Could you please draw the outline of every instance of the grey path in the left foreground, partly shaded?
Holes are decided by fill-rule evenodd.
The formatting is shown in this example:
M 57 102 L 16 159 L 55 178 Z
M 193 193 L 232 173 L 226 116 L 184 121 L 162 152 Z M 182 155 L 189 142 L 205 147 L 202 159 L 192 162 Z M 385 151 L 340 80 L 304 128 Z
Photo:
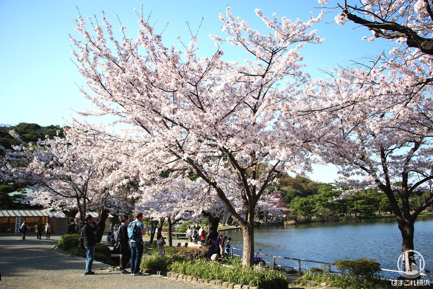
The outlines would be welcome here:
M 145 274 L 131 276 L 119 271 L 101 270 L 109 265 L 94 262 L 95 275 L 84 275 L 85 259 L 70 257 L 53 250 L 60 235 L 51 240 L 37 240 L 29 234 L 26 240 L 19 235 L 0 236 L 0 289 L 216 289 L 204 283 L 169 279 Z

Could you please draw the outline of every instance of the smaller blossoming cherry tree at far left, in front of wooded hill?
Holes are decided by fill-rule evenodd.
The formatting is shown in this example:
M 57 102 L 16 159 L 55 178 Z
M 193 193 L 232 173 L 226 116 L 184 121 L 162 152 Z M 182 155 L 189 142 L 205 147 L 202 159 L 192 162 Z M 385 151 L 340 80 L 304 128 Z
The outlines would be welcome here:
M 32 184 L 28 201 L 58 211 L 100 209 L 100 219 L 118 207 L 114 196 L 126 179 L 113 159 L 104 157 L 94 139 L 80 130 L 65 130 L 65 138 L 39 140 L 36 146 L 15 147 L 2 159 L 2 172 L 15 182 Z M 91 145 L 90 145 L 91 144 Z M 105 220 L 103 220 L 105 224 Z M 103 230 L 103 228 L 102 228 Z

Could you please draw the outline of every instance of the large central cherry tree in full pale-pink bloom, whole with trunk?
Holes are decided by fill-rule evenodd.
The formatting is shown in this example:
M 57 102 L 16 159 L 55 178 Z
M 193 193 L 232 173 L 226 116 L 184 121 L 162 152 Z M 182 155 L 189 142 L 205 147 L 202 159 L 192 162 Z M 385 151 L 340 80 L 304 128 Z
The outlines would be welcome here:
M 82 93 L 97 106 L 96 114 L 118 116 L 135 128 L 142 172 L 152 175 L 149 179 L 187 169 L 215 190 L 243 229 L 244 266 L 253 264 L 257 202 L 278 173 L 306 164 L 301 143 L 291 137 L 293 125 L 283 125 L 280 117 L 308 79 L 301 72 L 300 49 L 322 41 L 310 31 L 322 14 L 304 23 L 255 12 L 268 34 L 227 8 L 220 13 L 227 37 L 211 35 L 215 52 L 201 58 L 197 36 L 183 51 L 165 47 L 143 13 L 135 41 L 125 34 L 117 40 L 104 13 L 100 24 L 90 19 L 90 29 L 79 16 L 75 30 L 83 40 L 70 36 L 78 71 L 90 88 Z M 224 61 L 224 43 L 246 60 Z M 227 198 L 232 191 L 244 217 Z

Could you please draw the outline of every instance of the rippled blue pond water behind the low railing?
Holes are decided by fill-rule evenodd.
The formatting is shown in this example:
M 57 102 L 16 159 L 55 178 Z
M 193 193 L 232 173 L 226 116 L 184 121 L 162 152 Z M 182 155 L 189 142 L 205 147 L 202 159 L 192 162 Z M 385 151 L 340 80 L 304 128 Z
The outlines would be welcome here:
M 425 269 L 430 271 L 433 270 L 432 229 L 433 217 L 420 217 L 415 222 L 414 250 L 423 255 Z M 223 234 L 232 237 L 233 247 L 242 249 L 241 230 Z M 367 257 L 391 270 L 397 270 L 402 244 L 394 218 L 257 227 L 254 238 L 255 252 L 323 262 Z M 263 257 L 270 262 L 269 258 Z M 297 261 L 277 263 L 297 267 Z M 310 266 L 320 267 L 320 264 L 302 263 L 303 268 Z

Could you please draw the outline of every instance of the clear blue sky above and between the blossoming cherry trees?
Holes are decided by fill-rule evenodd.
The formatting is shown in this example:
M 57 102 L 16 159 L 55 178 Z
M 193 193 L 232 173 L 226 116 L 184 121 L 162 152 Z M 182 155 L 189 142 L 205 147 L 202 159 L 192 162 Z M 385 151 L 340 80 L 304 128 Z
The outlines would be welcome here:
M 343 1 L 340 1 L 343 2 Z M 126 26 L 128 36 L 135 38 L 138 29 L 138 16 L 134 8 L 144 6 L 145 14 L 152 12 L 150 19 L 158 19 L 156 32 L 162 31 L 165 23 L 171 25 L 163 33 L 166 45 L 176 44 L 177 36 L 188 39 L 188 27 L 185 21 L 196 30 L 202 16 L 206 16 L 200 28 L 200 53 L 214 51 L 213 42 L 208 40 L 209 33 L 223 36 L 220 30 L 218 10 L 232 8 L 234 16 L 240 16 L 250 26 L 265 31 L 266 27 L 255 15 L 255 8 L 272 17 L 286 16 L 295 20 L 307 21 L 310 11 L 317 16 L 320 5 L 316 0 L 278 0 L 278 1 L 113 1 L 113 0 L 0 0 L 0 124 L 16 125 L 20 122 L 65 125 L 75 115 L 74 111 L 91 108 L 78 91 L 84 85 L 84 79 L 71 62 L 71 42 L 68 33 L 74 32 L 71 19 L 78 16 L 78 6 L 82 16 L 97 14 L 105 10 L 107 18 L 115 28 L 118 27 L 114 15 L 119 15 Z M 335 6 L 330 0 L 328 6 Z M 389 50 L 385 40 L 374 42 L 362 41 L 362 36 L 371 36 L 371 32 L 360 27 L 354 29 L 351 23 L 339 26 L 333 22 L 335 13 L 327 13 L 314 29 L 325 38 L 323 44 L 306 45 L 301 50 L 307 71 L 314 77 L 320 76 L 317 68 L 333 68 L 336 65 L 349 65 L 350 60 L 376 55 L 381 50 Z M 330 23 L 330 24 L 326 24 Z M 227 58 L 236 59 L 236 55 L 226 52 Z M 242 61 L 239 59 L 239 61 Z M 330 181 L 330 175 L 336 169 L 327 166 L 320 172 L 317 169 L 312 179 Z M 332 177 L 331 177 L 332 179 Z

